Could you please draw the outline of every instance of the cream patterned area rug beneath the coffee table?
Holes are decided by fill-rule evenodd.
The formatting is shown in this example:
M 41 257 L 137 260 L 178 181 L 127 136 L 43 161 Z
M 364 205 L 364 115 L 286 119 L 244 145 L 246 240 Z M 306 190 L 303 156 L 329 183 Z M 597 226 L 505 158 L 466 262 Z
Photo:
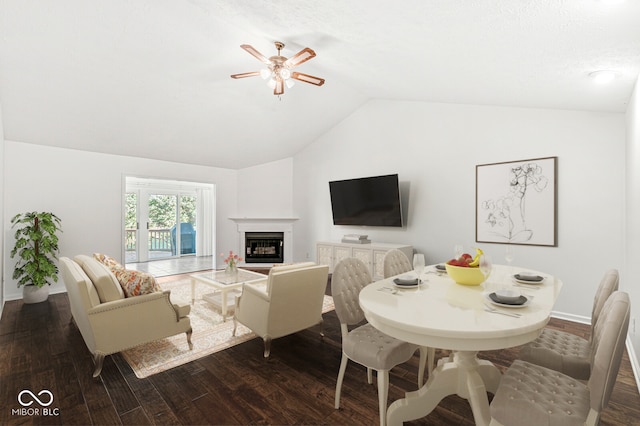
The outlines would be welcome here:
M 173 303 L 191 303 L 190 279 L 170 281 L 162 283 L 160 286 L 163 290 L 171 290 Z M 149 377 L 256 337 L 251 330 L 242 324 L 238 324 L 236 335 L 232 335 L 233 314 L 227 315 L 227 321 L 223 322 L 220 311 L 209 302 L 202 300 L 202 296 L 211 293 L 211 291 L 212 288 L 206 285 L 196 285 L 195 303 L 191 305 L 189 313 L 193 329 L 191 336 L 193 350 L 189 350 L 187 337 L 181 333 L 122 352 L 124 359 L 138 378 Z M 230 294 L 229 298 L 231 297 L 233 296 Z M 333 298 L 325 296 L 322 312 L 329 312 L 333 309 Z

